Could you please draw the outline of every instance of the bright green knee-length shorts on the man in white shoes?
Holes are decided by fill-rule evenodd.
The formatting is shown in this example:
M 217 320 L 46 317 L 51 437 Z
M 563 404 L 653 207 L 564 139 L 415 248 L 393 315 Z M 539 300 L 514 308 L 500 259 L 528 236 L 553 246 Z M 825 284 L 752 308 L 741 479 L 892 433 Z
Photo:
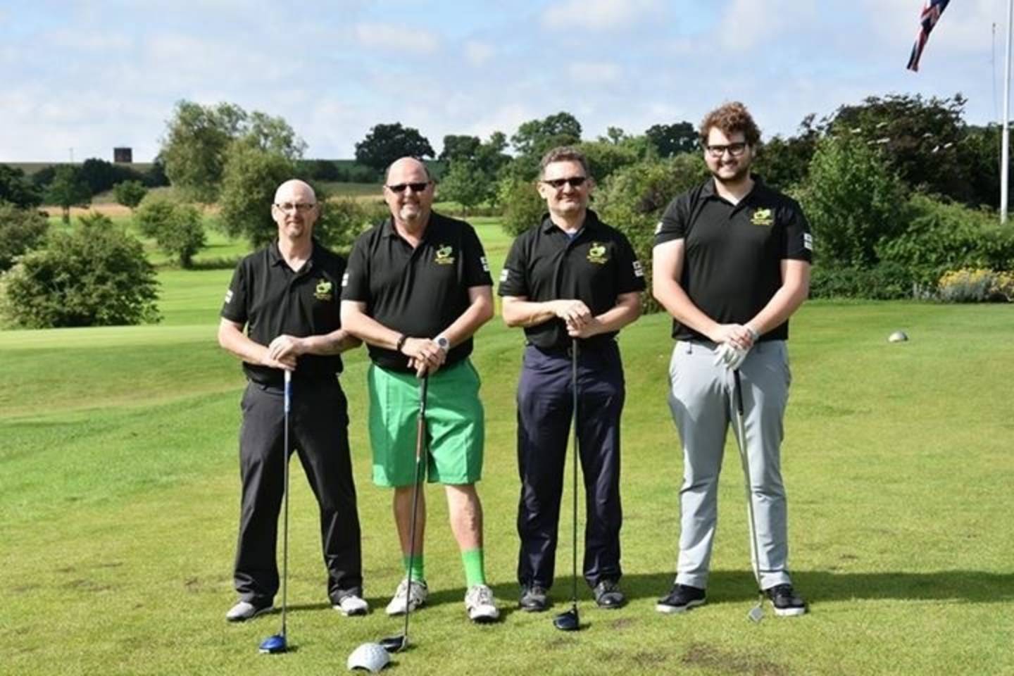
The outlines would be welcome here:
M 388 371 L 371 364 L 366 382 L 370 393 L 373 482 L 412 485 L 422 381 L 414 373 Z M 426 396 L 429 454 L 423 461 L 423 471 L 431 483 L 475 483 L 483 473 L 485 425 L 479 385 L 479 374 L 467 359 L 430 376 Z

